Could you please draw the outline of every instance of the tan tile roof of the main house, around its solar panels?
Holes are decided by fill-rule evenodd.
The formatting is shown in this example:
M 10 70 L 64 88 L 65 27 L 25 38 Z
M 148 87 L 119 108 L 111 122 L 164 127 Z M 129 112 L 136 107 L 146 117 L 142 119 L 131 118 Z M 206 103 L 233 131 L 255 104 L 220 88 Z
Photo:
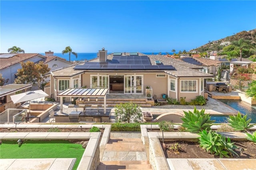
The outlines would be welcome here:
M 125 53 L 125 54 L 129 55 L 129 53 Z M 124 53 L 122 53 L 122 55 L 124 55 Z M 145 54 L 138 53 L 138 56 L 145 56 Z M 186 63 L 186 62 L 180 61 L 178 59 L 172 59 L 172 58 L 166 57 L 165 55 L 147 55 L 147 56 L 148 56 L 148 59 L 149 59 L 151 65 L 157 65 L 155 63 L 155 60 L 161 61 L 162 65 L 172 65 L 172 67 L 174 67 L 174 69 L 164 69 L 164 70 L 160 70 L 160 71 L 163 73 L 170 74 L 175 77 L 191 77 L 191 76 L 193 76 L 193 77 L 208 77 L 208 78 L 213 77 L 212 74 L 207 74 L 207 73 L 204 73 L 201 71 L 194 70 L 194 69 L 202 69 L 203 68 L 202 66 Z M 113 57 L 114 57 L 113 53 L 111 53 L 107 56 L 107 59 L 111 61 L 113 59 Z M 81 63 L 77 63 L 74 65 L 62 68 L 62 69 L 54 70 L 51 73 L 54 77 L 73 77 L 75 75 L 79 75 L 79 74 L 82 74 L 87 71 L 95 71 L 95 70 L 81 70 L 78 68 L 78 67 L 81 67 L 81 65 L 84 65 L 85 62 L 86 61 L 83 61 Z M 89 62 L 96 63 L 96 62 L 99 62 L 99 58 L 96 57 L 87 62 L 88 63 Z M 77 65 L 78 65 L 77 69 L 74 69 L 74 67 L 76 67 Z M 104 68 L 101 68 L 101 70 L 105 71 Z M 121 71 L 124 71 L 124 70 L 125 69 L 123 69 Z M 116 70 L 109 70 L 109 71 L 116 72 Z M 134 71 L 137 71 L 137 70 L 134 70 Z M 152 72 L 152 71 L 145 70 L 145 72 Z

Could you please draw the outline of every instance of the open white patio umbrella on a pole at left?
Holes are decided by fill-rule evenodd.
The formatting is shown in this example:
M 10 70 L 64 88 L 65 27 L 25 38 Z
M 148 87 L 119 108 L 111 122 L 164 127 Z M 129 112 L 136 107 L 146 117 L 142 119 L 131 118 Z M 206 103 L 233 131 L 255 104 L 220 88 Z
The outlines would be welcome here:
M 27 91 L 25 93 L 20 93 L 18 95 L 12 95 L 10 96 L 13 103 L 20 103 L 24 101 L 29 101 L 29 112 L 30 112 L 30 100 L 38 99 L 41 97 L 46 97 L 48 94 L 46 94 L 42 90 L 35 90 L 35 91 Z

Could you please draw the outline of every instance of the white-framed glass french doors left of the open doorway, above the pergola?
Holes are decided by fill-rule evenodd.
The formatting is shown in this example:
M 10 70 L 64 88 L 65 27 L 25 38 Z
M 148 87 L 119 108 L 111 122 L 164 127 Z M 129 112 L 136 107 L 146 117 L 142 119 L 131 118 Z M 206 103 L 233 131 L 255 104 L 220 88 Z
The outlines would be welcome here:
M 91 88 L 108 88 L 108 75 L 91 75 Z

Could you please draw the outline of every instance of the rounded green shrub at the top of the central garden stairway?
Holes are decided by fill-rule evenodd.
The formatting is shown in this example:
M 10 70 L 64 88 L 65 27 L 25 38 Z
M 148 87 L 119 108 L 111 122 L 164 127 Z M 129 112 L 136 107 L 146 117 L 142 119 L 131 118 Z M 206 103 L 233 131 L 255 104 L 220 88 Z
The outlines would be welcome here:
M 136 103 L 120 103 L 115 109 L 116 122 L 135 123 L 142 117 L 140 106 Z

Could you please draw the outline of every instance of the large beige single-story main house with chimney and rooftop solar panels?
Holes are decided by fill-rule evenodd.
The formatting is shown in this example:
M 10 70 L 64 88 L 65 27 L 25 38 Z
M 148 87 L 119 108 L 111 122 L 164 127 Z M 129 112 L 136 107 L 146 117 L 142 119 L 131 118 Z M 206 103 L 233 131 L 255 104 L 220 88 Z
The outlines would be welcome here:
M 52 71 L 48 93 L 57 99 L 56 94 L 67 88 L 86 86 L 109 88 L 108 94 L 145 95 L 148 86 L 158 99 L 167 94 L 178 100 L 186 97 L 189 101 L 204 96 L 204 79 L 213 77 L 195 69 L 202 67 L 163 55 L 137 52 L 107 55 L 102 49 L 95 59 Z

